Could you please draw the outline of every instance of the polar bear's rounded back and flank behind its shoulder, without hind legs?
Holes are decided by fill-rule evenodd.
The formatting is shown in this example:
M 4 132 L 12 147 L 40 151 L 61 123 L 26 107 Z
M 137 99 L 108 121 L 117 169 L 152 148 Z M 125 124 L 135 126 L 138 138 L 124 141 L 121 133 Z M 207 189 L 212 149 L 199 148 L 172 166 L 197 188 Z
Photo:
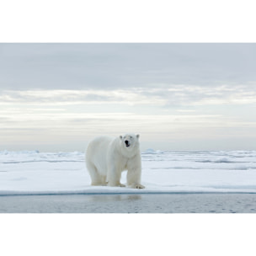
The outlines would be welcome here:
M 86 151 L 86 163 L 93 164 L 99 173 L 104 175 L 107 170 L 107 151 L 109 144 L 115 140 L 111 136 L 98 136 L 90 141 Z

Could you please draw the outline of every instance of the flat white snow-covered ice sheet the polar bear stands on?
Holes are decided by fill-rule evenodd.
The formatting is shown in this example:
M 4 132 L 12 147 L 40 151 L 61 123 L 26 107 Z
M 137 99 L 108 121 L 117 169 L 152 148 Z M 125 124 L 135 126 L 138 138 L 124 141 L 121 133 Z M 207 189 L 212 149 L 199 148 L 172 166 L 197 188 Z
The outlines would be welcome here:
M 2 151 L 0 195 L 256 193 L 256 151 L 150 149 L 141 157 L 146 189 L 131 189 L 91 186 L 83 152 Z

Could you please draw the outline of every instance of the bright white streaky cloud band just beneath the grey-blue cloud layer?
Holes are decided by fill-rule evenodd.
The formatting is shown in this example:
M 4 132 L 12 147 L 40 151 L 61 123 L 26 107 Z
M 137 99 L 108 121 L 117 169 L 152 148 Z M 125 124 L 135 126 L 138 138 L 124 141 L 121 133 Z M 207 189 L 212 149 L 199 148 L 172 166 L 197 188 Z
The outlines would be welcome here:
M 165 85 L 162 88 L 112 90 L 8 90 L 0 92 L 0 104 L 34 104 L 42 106 L 118 104 L 177 106 L 255 104 L 253 85 L 221 85 L 214 88 L 194 85 Z

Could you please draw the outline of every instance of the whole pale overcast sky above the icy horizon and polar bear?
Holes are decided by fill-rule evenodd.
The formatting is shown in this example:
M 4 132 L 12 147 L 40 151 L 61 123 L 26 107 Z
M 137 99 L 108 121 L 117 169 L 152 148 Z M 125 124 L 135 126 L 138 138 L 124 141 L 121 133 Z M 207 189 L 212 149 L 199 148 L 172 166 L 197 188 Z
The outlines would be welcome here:
M 255 150 L 256 44 L 1 43 L 0 151 Z

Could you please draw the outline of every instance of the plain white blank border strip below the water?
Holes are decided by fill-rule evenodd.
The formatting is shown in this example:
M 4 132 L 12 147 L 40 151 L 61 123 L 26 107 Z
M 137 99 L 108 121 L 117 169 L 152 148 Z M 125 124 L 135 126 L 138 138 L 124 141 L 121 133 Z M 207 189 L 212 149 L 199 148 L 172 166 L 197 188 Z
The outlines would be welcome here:
M 244 221 L 246 218 L 246 221 Z M 253 215 L 3 215 L 3 255 L 251 255 Z

